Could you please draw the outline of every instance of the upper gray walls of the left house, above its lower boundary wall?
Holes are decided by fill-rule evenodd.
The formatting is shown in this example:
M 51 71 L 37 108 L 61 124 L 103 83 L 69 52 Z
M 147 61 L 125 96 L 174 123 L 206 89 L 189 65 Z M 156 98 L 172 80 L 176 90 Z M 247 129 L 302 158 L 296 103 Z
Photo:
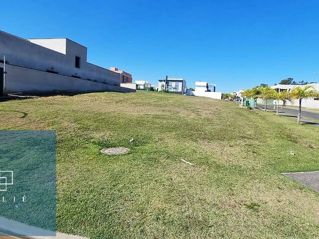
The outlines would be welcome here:
M 0 31 L 0 58 L 5 55 L 6 61 L 12 65 L 41 71 L 56 71 L 61 75 L 75 75 L 82 79 L 120 86 L 121 74 L 88 63 L 87 48 L 69 39 L 64 39 L 64 41 L 61 39 L 30 39 L 37 43 L 35 44 Z M 64 51 L 63 47 L 65 47 L 66 54 L 61 53 Z M 80 57 L 80 68 L 75 67 L 75 56 Z

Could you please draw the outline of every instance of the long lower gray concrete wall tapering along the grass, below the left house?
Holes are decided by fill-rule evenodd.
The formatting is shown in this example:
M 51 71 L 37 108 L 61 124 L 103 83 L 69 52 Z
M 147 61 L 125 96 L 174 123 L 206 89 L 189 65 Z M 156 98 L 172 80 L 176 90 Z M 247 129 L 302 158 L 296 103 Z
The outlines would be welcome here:
M 3 64 L 0 63 L 3 68 Z M 5 93 L 136 92 L 129 88 L 6 64 Z

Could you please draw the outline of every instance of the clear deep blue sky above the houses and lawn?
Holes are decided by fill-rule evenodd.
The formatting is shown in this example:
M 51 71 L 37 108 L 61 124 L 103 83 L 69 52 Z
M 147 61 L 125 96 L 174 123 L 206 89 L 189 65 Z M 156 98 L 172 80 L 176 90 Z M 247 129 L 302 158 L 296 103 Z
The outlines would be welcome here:
M 287 77 L 319 82 L 319 0 L 7 1 L 0 29 L 67 37 L 134 80 L 165 75 L 232 92 Z

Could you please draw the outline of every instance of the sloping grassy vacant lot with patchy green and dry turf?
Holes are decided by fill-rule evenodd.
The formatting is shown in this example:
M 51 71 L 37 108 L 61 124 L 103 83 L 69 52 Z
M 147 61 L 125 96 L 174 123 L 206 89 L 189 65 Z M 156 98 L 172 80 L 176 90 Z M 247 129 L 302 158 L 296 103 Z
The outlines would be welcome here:
M 319 237 L 319 194 L 281 175 L 319 170 L 318 126 L 155 92 L 7 101 L 0 120 L 1 129 L 56 129 L 59 232 L 92 239 Z M 99 153 L 114 146 L 131 152 Z

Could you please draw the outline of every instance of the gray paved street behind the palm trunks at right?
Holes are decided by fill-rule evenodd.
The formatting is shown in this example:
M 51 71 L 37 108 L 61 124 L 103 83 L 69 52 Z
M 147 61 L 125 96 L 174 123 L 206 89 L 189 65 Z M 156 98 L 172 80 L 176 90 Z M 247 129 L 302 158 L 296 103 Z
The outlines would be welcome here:
M 259 109 L 264 109 L 264 105 L 258 104 L 257 107 Z M 274 110 L 274 105 L 267 106 L 267 110 L 276 112 L 276 110 Z M 298 110 L 297 109 L 292 109 L 292 108 L 286 108 L 286 107 L 281 109 L 281 106 L 280 106 L 279 107 L 279 115 L 280 116 L 293 117 L 293 118 L 297 119 Z M 306 123 L 311 123 L 311 119 L 319 120 L 319 113 L 309 112 L 309 111 L 302 111 L 301 115 L 302 115 L 302 121 L 306 122 Z M 303 118 L 307 118 L 307 119 L 303 119 Z M 317 124 L 317 123 L 314 122 L 314 124 Z M 319 125 L 319 123 L 318 123 L 318 125 Z

